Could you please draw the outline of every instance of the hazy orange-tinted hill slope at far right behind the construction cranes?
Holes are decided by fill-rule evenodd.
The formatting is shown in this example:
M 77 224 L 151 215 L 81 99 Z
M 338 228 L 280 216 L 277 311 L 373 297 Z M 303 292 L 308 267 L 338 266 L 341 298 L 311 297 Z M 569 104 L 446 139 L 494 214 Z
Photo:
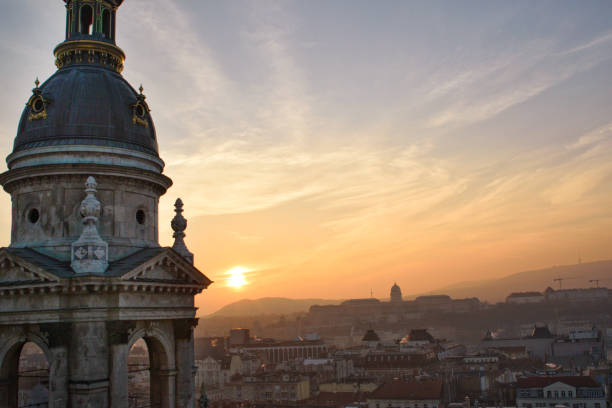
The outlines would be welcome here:
M 586 288 L 591 279 L 600 279 L 600 286 L 612 288 L 612 260 L 585 262 L 576 265 L 519 272 L 499 279 L 460 282 L 427 294 L 445 294 L 452 298 L 477 297 L 482 301 L 499 302 L 512 292 L 544 291 L 548 286 L 558 289 L 555 278 L 563 278 L 563 288 Z

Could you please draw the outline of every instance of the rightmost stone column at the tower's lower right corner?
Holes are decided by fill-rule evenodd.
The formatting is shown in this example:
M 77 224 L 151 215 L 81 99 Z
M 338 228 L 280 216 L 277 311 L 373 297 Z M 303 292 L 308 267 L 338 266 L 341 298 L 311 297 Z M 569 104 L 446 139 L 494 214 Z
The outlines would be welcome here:
M 197 324 L 197 319 L 181 319 L 174 321 L 176 408 L 194 407 L 193 328 Z

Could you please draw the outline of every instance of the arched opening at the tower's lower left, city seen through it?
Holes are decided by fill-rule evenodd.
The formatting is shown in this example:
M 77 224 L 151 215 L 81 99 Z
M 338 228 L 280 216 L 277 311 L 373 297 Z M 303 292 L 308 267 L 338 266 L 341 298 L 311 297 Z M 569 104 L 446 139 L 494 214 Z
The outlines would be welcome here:
M 17 363 L 17 406 L 49 406 L 49 362 L 45 353 L 32 342 L 21 347 Z

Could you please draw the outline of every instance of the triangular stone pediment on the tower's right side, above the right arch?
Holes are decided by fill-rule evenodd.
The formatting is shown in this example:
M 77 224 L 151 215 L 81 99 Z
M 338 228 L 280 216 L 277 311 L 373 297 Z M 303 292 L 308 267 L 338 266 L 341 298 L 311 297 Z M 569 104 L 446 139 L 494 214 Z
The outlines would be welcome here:
M 211 283 L 204 274 L 169 248 L 124 274 L 123 280 L 204 287 Z

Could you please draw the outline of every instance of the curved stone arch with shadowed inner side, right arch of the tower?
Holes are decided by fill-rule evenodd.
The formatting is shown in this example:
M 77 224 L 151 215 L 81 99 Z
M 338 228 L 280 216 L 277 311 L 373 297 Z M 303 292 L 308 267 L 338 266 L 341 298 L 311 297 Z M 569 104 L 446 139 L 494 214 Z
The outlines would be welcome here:
M 158 327 L 149 325 L 136 329 L 128 341 L 128 354 L 136 341 L 143 339 L 149 353 L 150 402 L 153 407 L 174 407 L 175 404 L 175 354 L 173 342 Z M 125 361 L 127 365 L 127 358 Z

